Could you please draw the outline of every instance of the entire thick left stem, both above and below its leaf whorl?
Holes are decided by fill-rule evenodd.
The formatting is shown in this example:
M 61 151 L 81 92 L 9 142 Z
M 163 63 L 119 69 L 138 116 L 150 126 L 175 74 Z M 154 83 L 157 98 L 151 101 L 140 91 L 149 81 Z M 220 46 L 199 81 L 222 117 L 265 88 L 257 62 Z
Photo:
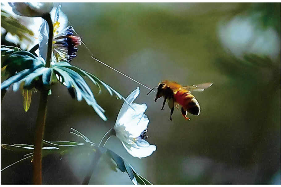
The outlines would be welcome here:
M 50 67 L 52 57 L 52 41 L 53 41 L 53 24 L 50 14 L 42 16 L 49 26 L 49 39 L 46 57 L 46 67 Z M 37 113 L 37 120 L 35 125 L 35 137 L 34 137 L 34 155 L 33 155 L 33 184 L 42 184 L 42 140 L 44 135 L 46 109 L 48 101 L 48 90 L 40 92 L 39 108 Z

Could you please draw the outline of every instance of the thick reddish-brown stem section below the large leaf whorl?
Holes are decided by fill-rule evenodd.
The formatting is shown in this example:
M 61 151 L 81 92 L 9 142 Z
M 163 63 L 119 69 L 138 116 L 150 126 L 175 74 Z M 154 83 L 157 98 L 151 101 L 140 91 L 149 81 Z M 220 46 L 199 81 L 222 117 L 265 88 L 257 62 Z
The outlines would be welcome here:
M 42 184 L 42 140 L 44 134 L 48 91 L 40 92 L 40 102 L 35 126 L 34 154 L 33 154 L 33 184 Z

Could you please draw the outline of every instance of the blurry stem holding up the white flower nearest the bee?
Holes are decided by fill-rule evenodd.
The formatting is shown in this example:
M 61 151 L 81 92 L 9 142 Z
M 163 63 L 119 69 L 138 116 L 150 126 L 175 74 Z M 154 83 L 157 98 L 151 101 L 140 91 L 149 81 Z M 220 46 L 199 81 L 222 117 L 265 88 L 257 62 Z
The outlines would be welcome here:
M 103 145 L 102 147 L 104 147 L 104 145 L 106 144 L 107 140 L 111 137 L 115 135 L 115 131 L 114 129 L 110 129 L 109 131 L 107 131 L 107 133 L 105 133 L 105 135 L 103 136 L 102 140 L 99 143 L 99 147 L 101 147 L 101 145 Z M 82 185 L 88 185 L 90 182 L 90 179 L 93 175 L 94 169 L 96 168 L 96 165 L 98 164 L 98 161 L 100 159 L 100 157 L 102 156 L 102 152 L 100 152 L 99 149 L 96 150 L 96 152 L 94 153 L 94 157 L 92 159 L 91 165 L 88 169 L 88 173 L 86 175 L 86 177 L 84 178 Z

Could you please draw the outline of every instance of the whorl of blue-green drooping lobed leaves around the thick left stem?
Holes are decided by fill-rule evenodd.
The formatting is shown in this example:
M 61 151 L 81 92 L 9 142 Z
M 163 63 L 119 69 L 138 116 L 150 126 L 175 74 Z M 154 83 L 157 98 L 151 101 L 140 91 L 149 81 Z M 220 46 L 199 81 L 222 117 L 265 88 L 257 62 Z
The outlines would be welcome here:
M 105 111 L 99 106 L 92 90 L 83 78 L 87 77 L 98 86 L 99 83 L 102 84 L 111 95 L 114 93 L 118 98 L 127 102 L 123 96 L 97 77 L 78 67 L 71 66 L 67 62 L 58 62 L 53 64 L 52 67 L 44 67 L 45 62 L 42 58 L 36 57 L 27 51 L 17 51 L 9 55 L 3 62 L 3 66 L 5 65 L 7 66 L 7 71 L 9 70 L 14 76 L 11 76 L 1 84 L 1 90 L 7 89 L 13 84 L 13 90 L 17 91 L 21 83 L 24 83 L 23 88 L 27 90 L 33 87 L 36 89 L 42 87 L 50 89 L 49 87 L 52 83 L 60 81 L 67 87 L 72 98 L 76 97 L 78 101 L 84 99 L 103 120 L 107 120 L 104 115 Z

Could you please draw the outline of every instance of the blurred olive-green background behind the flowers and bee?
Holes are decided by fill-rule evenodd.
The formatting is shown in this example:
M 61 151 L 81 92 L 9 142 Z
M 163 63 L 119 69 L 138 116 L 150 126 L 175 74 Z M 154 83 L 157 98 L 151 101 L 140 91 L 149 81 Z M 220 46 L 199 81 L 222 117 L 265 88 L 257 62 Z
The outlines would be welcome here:
M 58 5 L 58 3 L 56 4 Z M 280 185 L 280 3 L 62 3 L 62 11 L 95 58 L 148 87 L 169 79 L 182 85 L 213 82 L 193 94 L 199 116 L 161 110 L 162 99 L 91 59 L 80 46 L 71 62 L 123 96 L 140 86 L 136 103 L 145 114 L 150 144 L 157 150 L 134 158 L 112 137 L 106 144 L 153 184 Z M 90 83 L 90 82 L 89 82 Z M 104 122 L 85 101 L 52 88 L 44 139 L 81 141 L 75 128 L 99 143 L 115 124 L 122 100 L 98 95 Z M 1 105 L 1 144 L 33 144 L 39 93 L 28 112 L 20 91 Z M 1 148 L 1 169 L 23 154 Z M 83 153 L 43 158 L 44 184 L 81 184 L 89 164 Z M 31 184 L 29 161 L 1 172 L 1 184 Z M 90 184 L 132 184 L 127 174 L 100 162 Z

